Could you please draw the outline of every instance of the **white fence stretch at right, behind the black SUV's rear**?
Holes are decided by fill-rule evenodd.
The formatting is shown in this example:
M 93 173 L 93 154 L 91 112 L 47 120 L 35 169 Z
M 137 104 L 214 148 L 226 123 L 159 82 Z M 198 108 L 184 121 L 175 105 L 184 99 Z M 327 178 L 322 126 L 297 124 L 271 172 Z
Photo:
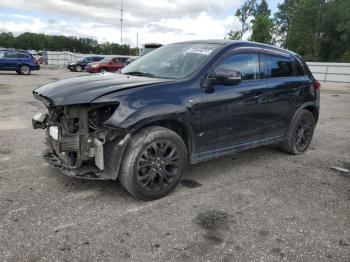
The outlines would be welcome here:
M 350 83 L 350 63 L 308 62 L 307 65 L 319 81 Z

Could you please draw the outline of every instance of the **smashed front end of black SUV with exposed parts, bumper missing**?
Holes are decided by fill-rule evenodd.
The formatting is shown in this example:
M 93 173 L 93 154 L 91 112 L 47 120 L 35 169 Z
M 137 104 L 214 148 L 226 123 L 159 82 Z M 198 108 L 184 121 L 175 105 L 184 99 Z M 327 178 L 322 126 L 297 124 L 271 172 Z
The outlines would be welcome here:
M 36 98 L 44 100 L 48 108 L 48 113 L 39 113 L 32 119 L 34 129 L 46 129 L 45 160 L 69 176 L 116 179 L 131 137 L 123 129 L 104 125 L 118 103 L 52 106 L 48 99 L 38 95 Z

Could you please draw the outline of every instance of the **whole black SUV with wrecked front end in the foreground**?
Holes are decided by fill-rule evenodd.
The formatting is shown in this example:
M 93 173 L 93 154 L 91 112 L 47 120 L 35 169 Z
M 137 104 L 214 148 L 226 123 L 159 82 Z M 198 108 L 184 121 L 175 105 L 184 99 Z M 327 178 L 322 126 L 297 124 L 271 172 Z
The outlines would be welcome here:
M 120 74 L 33 91 L 48 108 L 44 158 L 64 174 L 115 180 L 135 197 L 165 196 L 194 164 L 278 143 L 301 154 L 319 115 L 320 83 L 295 53 L 242 41 L 161 47 Z

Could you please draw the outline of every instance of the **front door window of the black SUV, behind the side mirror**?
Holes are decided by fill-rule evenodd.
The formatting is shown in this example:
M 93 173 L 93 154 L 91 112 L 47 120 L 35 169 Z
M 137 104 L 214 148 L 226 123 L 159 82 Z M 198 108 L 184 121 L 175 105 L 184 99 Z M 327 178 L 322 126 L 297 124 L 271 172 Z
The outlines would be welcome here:
M 260 78 L 258 54 L 237 54 L 226 58 L 217 68 L 239 71 L 243 80 Z

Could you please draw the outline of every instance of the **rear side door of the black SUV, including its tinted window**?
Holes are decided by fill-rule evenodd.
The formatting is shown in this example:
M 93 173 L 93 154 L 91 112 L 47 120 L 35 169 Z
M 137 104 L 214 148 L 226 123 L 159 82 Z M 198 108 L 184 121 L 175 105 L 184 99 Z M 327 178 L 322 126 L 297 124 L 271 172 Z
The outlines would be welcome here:
M 303 86 L 307 77 L 297 76 L 293 57 L 288 54 L 264 51 L 266 76 L 268 78 L 268 115 L 266 126 L 268 137 L 287 133 L 296 109 L 302 103 Z

